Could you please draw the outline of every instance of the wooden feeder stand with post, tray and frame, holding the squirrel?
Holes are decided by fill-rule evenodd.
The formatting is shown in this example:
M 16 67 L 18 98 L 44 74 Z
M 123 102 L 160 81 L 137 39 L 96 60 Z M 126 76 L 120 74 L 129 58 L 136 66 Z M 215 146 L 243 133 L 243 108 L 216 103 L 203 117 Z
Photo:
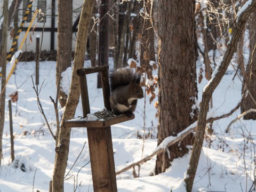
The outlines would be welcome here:
M 90 114 L 90 105 L 87 89 L 86 74 L 101 73 L 102 92 L 104 105 L 108 110 L 110 107 L 110 90 L 108 79 L 109 66 L 89 67 L 78 69 L 77 75 L 79 76 L 82 107 L 84 117 Z M 66 121 L 65 127 L 87 127 L 87 137 L 89 143 L 92 181 L 94 192 L 98 191 L 117 191 L 116 186 L 116 172 L 113 145 L 111 138 L 110 125 L 129 121 L 131 118 L 126 115 L 106 119 L 103 121 Z

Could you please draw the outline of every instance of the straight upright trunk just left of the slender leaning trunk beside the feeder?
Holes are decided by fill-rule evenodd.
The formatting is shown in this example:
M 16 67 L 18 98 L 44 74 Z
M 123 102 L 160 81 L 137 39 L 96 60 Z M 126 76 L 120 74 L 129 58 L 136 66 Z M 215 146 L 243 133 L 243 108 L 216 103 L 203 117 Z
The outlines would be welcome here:
M 61 73 L 71 66 L 72 58 L 72 7 L 73 0 L 59 0 L 59 15 L 58 15 L 58 52 L 56 66 L 56 84 L 61 81 Z M 59 101 L 61 107 L 64 107 L 67 102 L 67 93 L 63 91 L 60 83 Z

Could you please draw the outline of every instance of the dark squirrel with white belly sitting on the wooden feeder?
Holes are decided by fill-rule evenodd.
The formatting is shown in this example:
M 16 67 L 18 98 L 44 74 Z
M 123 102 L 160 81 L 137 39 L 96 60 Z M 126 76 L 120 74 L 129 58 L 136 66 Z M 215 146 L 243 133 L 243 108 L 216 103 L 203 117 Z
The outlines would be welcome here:
M 127 67 L 110 71 L 110 105 L 115 114 L 132 116 L 137 100 L 144 97 L 140 78 Z

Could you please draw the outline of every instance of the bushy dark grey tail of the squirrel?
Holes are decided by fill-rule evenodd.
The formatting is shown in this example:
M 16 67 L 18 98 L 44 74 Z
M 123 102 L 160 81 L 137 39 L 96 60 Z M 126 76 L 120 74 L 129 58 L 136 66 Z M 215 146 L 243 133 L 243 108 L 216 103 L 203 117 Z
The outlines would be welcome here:
M 111 70 L 109 73 L 110 92 L 113 92 L 119 86 L 127 86 L 131 82 L 139 84 L 140 78 L 140 75 L 135 75 L 132 69 L 128 67 Z

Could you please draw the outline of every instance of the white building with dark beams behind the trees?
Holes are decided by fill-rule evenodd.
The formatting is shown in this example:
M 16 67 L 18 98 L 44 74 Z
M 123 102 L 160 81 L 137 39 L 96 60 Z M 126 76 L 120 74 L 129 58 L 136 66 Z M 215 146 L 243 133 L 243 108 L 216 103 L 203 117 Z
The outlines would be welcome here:
M 9 6 L 12 3 L 13 0 L 9 1 Z M 18 18 L 19 18 L 19 25 L 22 22 L 23 15 L 26 12 L 27 5 L 29 4 L 31 0 L 22 0 L 21 5 L 18 7 Z M 36 9 L 41 9 L 43 13 L 46 14 L 46 20 L 45 24 L 44 21 L 37 22 L 35 19 L 31 29 L 35 27 L 34 35 L 31 33 L 31 29 L 29 32 L 29 35 L 26 38 L 26 41 L 24 45 L 22 46 L 22 51 L 33 51 L 36 52 L 36 37 L 40 36 L 42 37 L 42 30 L 43 25 L 44 26 L 44 34 L 43 34 L 43 44 L 42 44 L 42 50 L 57 50 L 57 28 L 58 28 L 58 2 L 59 1 L 65 1 L 65 0 L 34 0 L 31 6 L 31 10 L 29 12 L 27 21 L 25 22 L 25 25 L 23 27 L 22 32 L 19 35 L 18 38 L 18 48 L 20 46 L 20 43 L 22 42 L 22 39 L 25 36 L 26 30 L 30 24 L 31 18 L 33 17 L 33 13 L 36 11 Z M 3 0 L 0 0 L 1 2 L 1 8 L 3 7 Z M 82 10 L 83 0 L 73 0 L 73 51 L 75 50 L 75 43 L 76 43 L 76 34 L 77 34 L 77 27 L 78 27 L 78 21 L 79 21 L 79 15 Z M 0 10 L 0 15 L 2 15 L 3 9 Z M 13 21 L 11 26 L 13 26 Z M 32 42 L 30 41 L 30 36 L 32 39 Z M 7 42 L 7 51 L 9 52 L 11 46 L 12 46 L 12 39 L 10 39 L 10 33 L 8 37 Z M 41 39 L 40 39 L 41 42 Z

